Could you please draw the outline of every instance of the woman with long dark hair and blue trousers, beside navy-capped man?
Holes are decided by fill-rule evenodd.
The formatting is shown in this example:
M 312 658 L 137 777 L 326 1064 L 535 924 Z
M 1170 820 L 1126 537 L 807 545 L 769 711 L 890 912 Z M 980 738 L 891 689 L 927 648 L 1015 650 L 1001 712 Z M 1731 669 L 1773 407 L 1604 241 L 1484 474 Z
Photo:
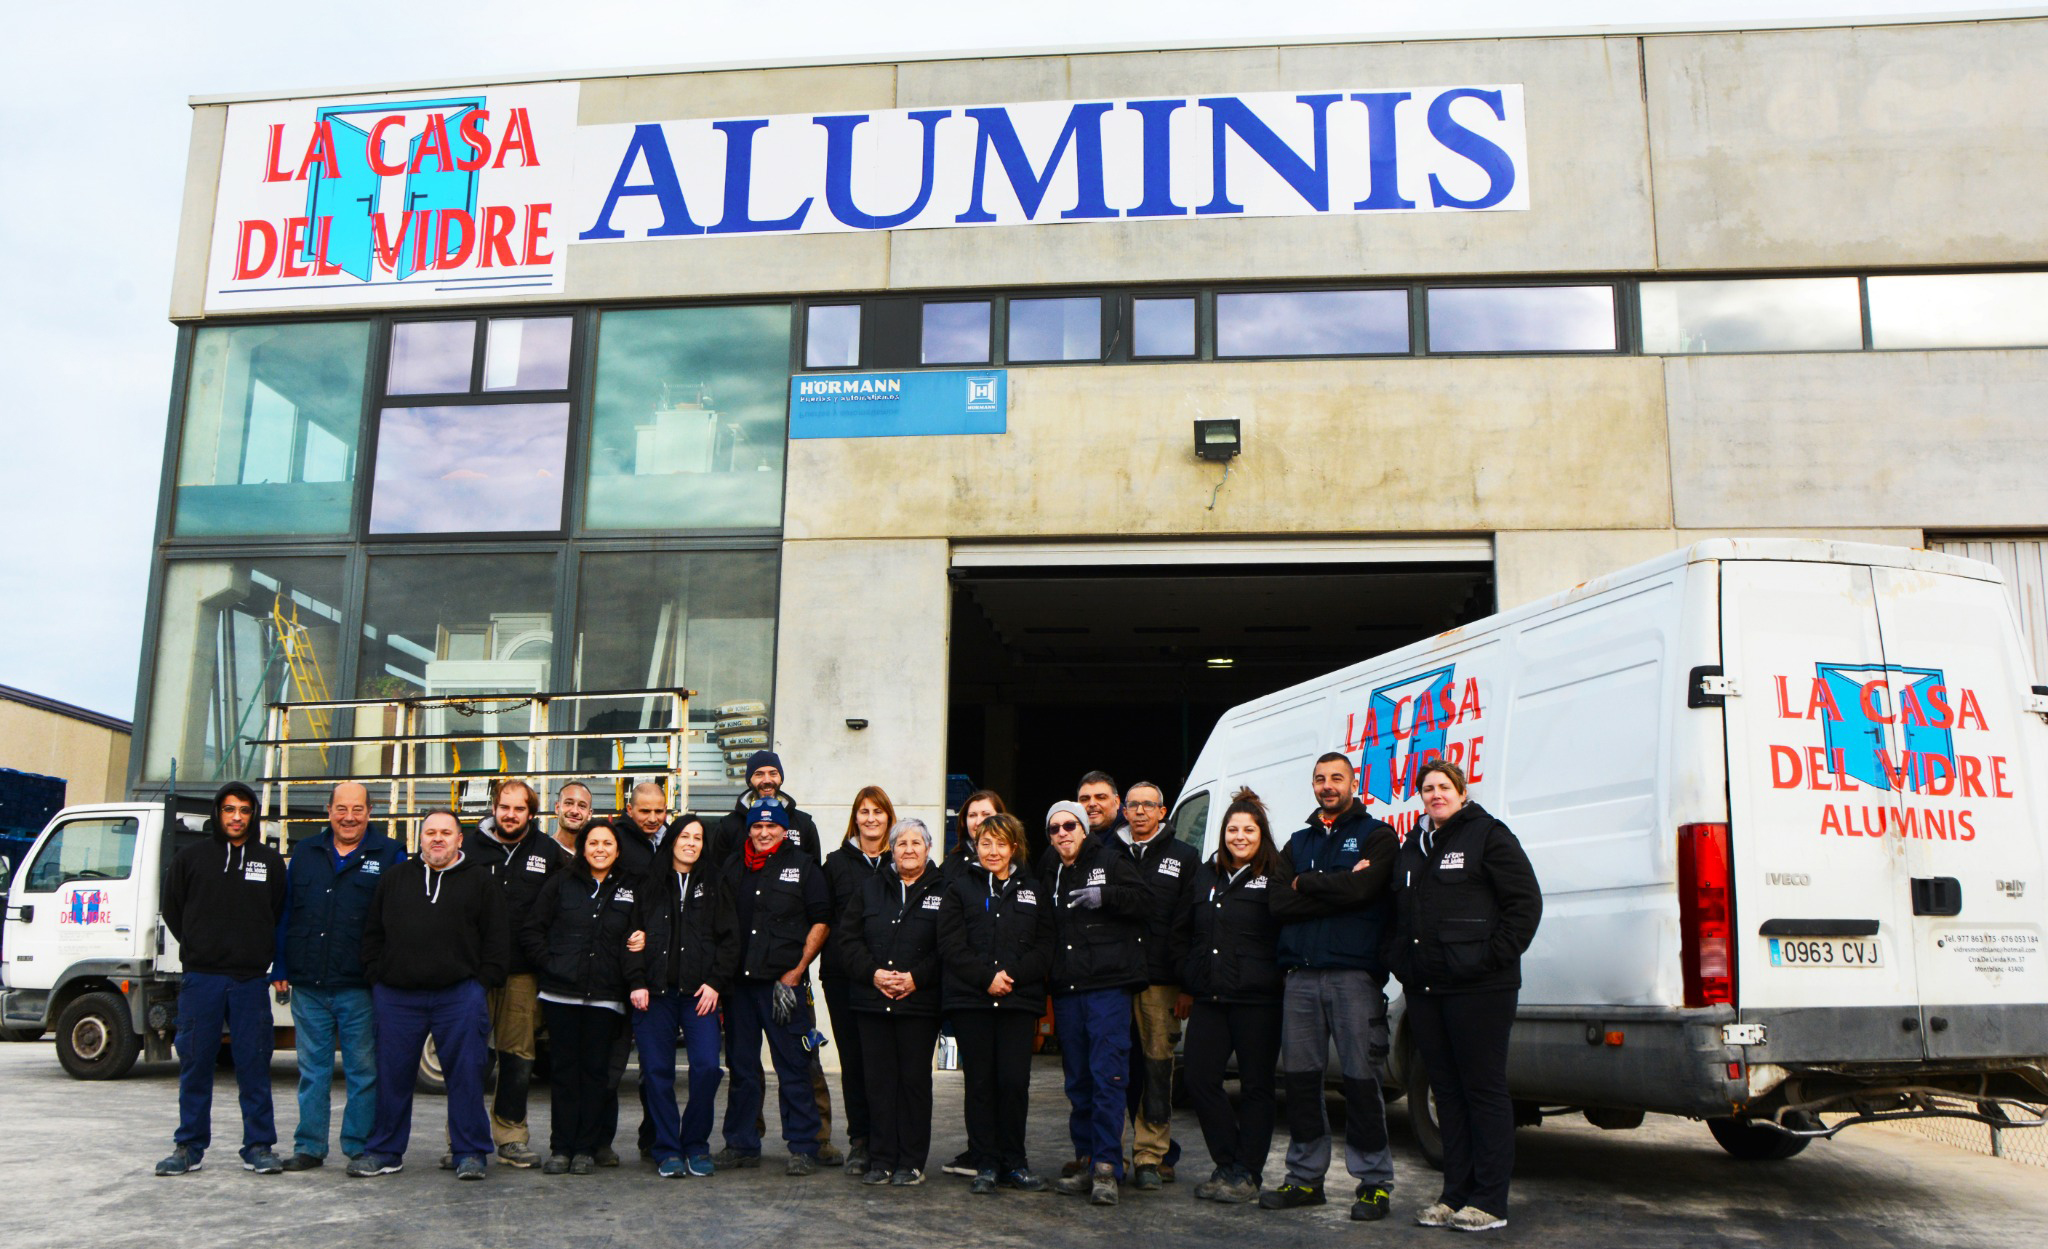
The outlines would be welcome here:
M 668 833 L 666 870 L 649 872 L 627 938 L 633 1042 L 653 1118 L 655 1169 L 666 1179 L 711 1175 L 711 1116 L 719 1081 L 719 997 L 739 966 L 733 891 L 705 864 L 705 821 Z M 676 1034 L 690 1054 L 690 1100 L 676 1114 Z

